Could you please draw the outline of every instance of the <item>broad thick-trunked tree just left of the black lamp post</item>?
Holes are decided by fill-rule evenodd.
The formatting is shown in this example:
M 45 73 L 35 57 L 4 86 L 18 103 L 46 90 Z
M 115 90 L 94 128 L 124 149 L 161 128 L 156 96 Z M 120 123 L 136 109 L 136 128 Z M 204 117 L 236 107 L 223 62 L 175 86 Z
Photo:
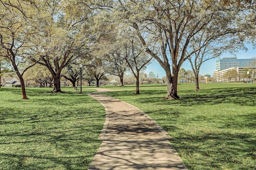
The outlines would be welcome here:
M 92 10 L 81 8 L 84 9 L 84 6 L 70 0 L 44 0 L 38 7 L 38 29 L 42 29 L 43 33 L 36 37 L 40 44 L 34 51 L 42 59 L 38 63 L 46 66 L 54 78 L 52 92 L 61 92 L 62 70 L 86 56 L 87 41 L 81 30 Z

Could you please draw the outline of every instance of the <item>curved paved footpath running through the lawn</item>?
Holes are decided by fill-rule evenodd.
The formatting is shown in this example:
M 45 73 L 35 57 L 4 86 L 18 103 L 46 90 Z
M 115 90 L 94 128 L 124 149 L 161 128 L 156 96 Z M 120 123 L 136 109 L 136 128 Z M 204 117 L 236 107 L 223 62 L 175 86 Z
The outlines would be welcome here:
M 99 136 L 102 144 L 88 170 L 187 169 L 168 133 L 146 113 L 100 92 L 89 96 L 105 107 L 106 120 Z

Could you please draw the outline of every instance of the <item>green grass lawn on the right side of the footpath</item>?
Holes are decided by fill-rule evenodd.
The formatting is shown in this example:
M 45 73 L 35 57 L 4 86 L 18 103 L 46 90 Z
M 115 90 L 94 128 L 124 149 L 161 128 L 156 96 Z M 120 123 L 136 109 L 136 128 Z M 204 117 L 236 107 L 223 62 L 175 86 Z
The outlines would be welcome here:
M 104 88 L 104 87 L 103 87 Z M 130 88 L 130 87 L 129 87 Z M 164 100 L 166 86 L 109 92 L 148 113 L 172 137 L 189 170 L 256 169 L 256 84 L 178 85 L 180 100 Z

